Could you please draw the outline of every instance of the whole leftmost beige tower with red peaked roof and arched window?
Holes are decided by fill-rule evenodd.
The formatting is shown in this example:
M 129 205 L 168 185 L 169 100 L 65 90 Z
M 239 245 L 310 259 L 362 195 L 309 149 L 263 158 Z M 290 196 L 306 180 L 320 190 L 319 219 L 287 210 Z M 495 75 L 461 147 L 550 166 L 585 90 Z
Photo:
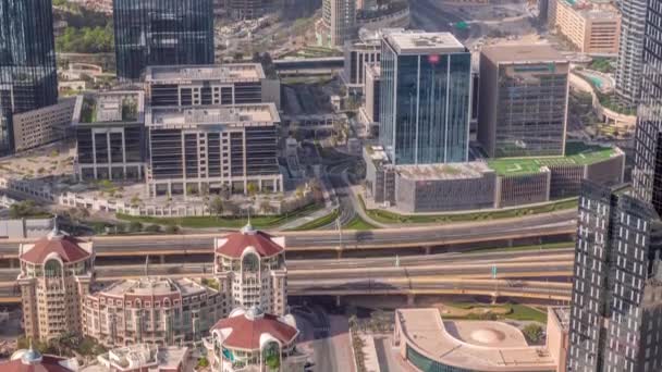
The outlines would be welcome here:
M 89 293 L 93 244 L 71 237 L 57 226 L 46 237 L 19 248 L 19 286 L 25 335 L 48 342 L 82 331 L 82 299 Z

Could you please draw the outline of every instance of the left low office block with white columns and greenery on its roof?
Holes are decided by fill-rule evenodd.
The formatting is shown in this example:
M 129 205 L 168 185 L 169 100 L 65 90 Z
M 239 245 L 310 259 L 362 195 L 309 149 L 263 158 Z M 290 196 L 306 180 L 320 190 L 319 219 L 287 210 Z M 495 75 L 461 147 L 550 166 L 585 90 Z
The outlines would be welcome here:
M 76 137 L 74 172 L 78 179 L 145 179 L 143 91 L 78 96 L 72 126 Z

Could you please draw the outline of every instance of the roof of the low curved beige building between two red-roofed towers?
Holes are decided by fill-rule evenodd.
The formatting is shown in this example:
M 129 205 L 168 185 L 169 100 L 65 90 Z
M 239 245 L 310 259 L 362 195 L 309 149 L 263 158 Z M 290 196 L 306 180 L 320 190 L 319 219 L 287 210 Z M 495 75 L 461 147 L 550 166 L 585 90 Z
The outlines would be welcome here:
M 124 280 L 100 292 L 106 296 L 166 296 L 181 294 L 182 297 L 203 294 L 211 289 L 187 278 L 142 277 Z

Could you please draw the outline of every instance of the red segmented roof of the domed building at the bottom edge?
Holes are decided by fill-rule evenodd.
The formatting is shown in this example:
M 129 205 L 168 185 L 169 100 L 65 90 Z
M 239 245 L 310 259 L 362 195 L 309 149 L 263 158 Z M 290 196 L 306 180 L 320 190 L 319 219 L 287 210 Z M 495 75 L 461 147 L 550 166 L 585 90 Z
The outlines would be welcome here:
M 235 309 L 229 318 L 216 323 L 211 331 L 220 331 L 225 347 L 257 350 L 266 339 L 291 344 L 298 335 L 295 325 L 291 315 L 279 318 L 254 307 L 248 310 Z

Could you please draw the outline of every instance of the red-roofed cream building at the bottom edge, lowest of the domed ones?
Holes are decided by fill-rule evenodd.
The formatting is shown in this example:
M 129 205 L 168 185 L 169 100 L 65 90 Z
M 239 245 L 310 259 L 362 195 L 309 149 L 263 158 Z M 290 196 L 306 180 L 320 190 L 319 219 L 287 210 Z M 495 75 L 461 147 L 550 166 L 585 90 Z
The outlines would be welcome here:
M 258 307 L 233 310 L 210 333 L 205 346 L 214 370 L 302 371 L 308 357 L 295 346 L 299 332 L 294 317 L 265 313 Z

